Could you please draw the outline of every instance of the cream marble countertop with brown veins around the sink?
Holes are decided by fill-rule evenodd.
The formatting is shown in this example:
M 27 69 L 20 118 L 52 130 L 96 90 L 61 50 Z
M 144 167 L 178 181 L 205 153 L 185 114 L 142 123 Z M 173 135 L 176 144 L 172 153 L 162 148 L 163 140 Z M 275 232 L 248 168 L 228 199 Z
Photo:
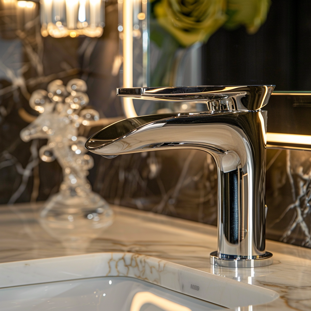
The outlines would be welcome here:
M 40 204 L 0 208 L 0 262 L 73 255 L 39 225 Z M 152 256 L 198 271 L 276 291 L 280 297 L 252 310 L 311 310 L 311 249 L 267 240 L 271 266 L 224 268 L 210 265 L 217 249 L 216 227 L 146 211 L 113 207 L 115 220 L 82 253 L 126 252 Z M 81 252 L 81 251 L 80 251 Z

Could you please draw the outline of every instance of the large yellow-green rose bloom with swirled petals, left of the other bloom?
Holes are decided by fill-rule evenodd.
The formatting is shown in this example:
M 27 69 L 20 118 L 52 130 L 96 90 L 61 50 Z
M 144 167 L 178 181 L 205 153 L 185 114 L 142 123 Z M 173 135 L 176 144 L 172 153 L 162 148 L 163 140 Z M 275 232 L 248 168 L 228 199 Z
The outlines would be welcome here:
M 184 47 L 206 42 L 227 19 L 225 0 L 162 0 L 155 4 L 158 23 Z

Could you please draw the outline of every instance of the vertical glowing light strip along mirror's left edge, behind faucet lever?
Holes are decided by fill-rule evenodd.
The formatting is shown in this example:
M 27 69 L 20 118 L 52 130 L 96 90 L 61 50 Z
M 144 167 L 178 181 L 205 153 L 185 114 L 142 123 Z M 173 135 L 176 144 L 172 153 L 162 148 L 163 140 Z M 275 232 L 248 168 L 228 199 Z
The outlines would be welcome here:
M 133 0 L 123 0 L 123 87 L 133 87 Z M 123 110 L 137 117 L 132 98 L 123 97 Z

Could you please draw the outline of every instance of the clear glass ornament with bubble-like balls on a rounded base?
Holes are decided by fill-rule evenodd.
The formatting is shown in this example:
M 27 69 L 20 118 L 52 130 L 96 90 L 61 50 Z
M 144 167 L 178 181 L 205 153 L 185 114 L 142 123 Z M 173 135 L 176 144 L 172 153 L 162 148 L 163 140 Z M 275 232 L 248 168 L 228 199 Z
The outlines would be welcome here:
M 49 197 L 40 213 L 40 223 L 53 237 L 69 248 L 85 248 L 91 239 L 112 224 L 113 212 L 108 203 L 91 190 L 86 176 L 94 165 L 86 154 L 86 138 L 78 136 L 81 124 L 97 121 L 99 113 L 84 109 L 89 98 L 86 83 L 72 79 L 49 83 L 47 91 L 32 93 L 30 107 L 39 116 L 21 131 L 21 139 L 47 139 L 39 149 L 45 162 L 57 159 L 63 170 L 59 192 Z

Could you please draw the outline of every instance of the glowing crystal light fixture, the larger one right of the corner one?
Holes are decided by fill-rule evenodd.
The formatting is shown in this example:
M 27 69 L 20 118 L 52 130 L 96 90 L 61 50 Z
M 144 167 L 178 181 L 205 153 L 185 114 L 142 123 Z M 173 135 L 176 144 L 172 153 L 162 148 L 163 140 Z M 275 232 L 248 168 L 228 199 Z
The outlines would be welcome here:
M 41 35 L 54 38 L 100 37 L 105 26 L 104 0 L 40 0 Z

